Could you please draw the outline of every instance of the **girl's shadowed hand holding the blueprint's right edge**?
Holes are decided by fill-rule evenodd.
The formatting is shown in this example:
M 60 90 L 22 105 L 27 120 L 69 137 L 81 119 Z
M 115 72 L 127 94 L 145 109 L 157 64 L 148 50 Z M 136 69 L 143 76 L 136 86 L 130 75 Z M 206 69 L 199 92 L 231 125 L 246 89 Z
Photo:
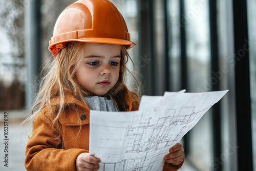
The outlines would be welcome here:
M 184 149 L 180 143 L 177 143 L 174 146 L 170 147 L 169 152 L 170 153 L 163 157 L 165 162 L 167 163 L 178 165 L 185 158 Z

